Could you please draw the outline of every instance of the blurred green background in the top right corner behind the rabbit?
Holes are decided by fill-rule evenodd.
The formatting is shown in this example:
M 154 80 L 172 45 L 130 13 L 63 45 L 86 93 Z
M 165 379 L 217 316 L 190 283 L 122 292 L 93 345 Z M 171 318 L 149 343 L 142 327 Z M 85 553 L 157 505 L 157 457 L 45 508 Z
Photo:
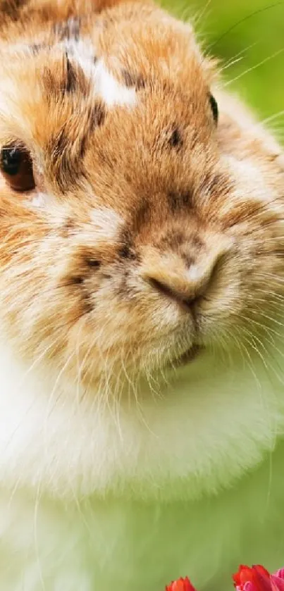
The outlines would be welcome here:
M 284 1 L 161 0 L 161 4 L 185 20 L 196 19 L 202 43 L 224 66 L 235 56 L 241 58 L 223 70 L 223 76 L 259 117 L 284 110 Z M 273 119 L 271 127 L 284 139 L 284 113 Z

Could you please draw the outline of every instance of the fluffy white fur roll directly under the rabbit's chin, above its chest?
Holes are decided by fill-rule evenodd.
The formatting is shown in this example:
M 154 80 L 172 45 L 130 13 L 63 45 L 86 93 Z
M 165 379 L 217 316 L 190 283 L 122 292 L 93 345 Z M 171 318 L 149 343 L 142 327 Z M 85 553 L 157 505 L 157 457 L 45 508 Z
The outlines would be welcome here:
M 279 347 L 265 357 L 206 350 L 159 384 L 149 375 L 116 397 L 107 385 L 82 392 L 62 372 L 24 366 L 2 340 L 1 485 L 144 499 L 228 487 L 283 433 Z

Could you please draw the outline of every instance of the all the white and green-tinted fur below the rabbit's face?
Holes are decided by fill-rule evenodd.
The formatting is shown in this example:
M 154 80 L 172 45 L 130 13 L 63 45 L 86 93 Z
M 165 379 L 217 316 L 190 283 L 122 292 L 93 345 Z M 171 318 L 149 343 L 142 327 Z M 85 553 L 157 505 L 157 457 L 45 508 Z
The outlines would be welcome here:
M 257 466 L 283 427 L 273 368 L 255 359 L 258 383 L 234 361 L 207 354 L 163 397 L 112 411 L 106 392 L 76 403 L 76 384 L 22 366 L 1 335 L 1 589 L 156 591 L 188 573 L 225 590 L 232 556 L 283 564 L 283 444 L 261 472 L 202 497 Z

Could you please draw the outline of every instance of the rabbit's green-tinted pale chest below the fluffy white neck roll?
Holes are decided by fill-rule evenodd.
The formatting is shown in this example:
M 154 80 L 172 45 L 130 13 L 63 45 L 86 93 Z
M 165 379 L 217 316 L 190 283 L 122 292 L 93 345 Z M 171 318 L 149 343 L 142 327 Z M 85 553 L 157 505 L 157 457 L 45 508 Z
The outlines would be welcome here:
M 193 502 L 89 499 L 1 502 L 0 581 L 6 591 L 163 591 L 190 576 L 230 589 L 240 562 L 283 564 L 283 449 L 235 489 Z M 6 509 L 8 506 L 8 510 Z

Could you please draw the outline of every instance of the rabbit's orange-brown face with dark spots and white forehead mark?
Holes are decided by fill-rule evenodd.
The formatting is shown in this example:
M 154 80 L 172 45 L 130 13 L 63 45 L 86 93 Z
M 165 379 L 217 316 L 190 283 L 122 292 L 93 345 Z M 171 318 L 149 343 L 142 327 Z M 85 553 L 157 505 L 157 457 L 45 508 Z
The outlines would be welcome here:
M 2 323 L 87 384 L 253 347 L 282 306 L 278 147 L 144 10 L 0 48 Z

